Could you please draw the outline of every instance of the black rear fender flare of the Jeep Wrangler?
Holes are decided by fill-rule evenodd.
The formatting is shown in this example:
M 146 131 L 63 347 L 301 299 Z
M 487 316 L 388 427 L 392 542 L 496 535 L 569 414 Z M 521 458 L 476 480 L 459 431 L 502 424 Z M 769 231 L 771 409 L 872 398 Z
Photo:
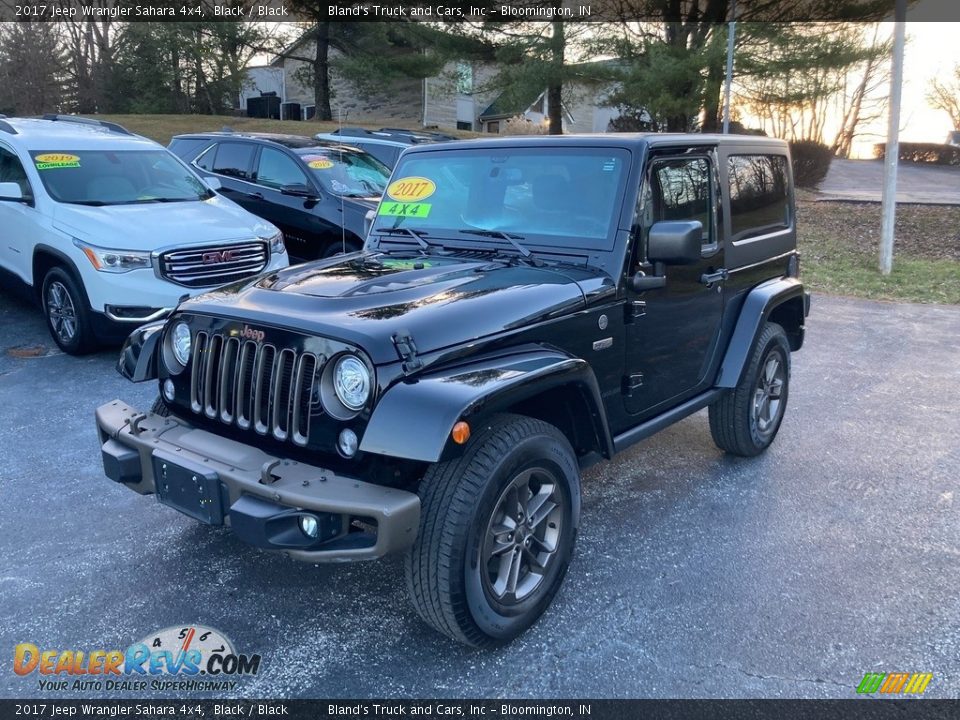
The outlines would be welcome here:
M 810 308 L 810 295 L 803 289 L 803 283 L 796 278 L 777 278 L 768 280 L 753 288 L 743 301 L 740 317 L 730 336 L 727 352 L 723 356 L 717 373 L 716 387 L 734 388 L 740 382 L 747 366 L 753 343 L 760 334 L 763 324 L 777 307 L 785 303 L 797 303 L 802 308 L 802 318 Z M 803 344 L 802 325 L 794 333 L 795 347 Z

